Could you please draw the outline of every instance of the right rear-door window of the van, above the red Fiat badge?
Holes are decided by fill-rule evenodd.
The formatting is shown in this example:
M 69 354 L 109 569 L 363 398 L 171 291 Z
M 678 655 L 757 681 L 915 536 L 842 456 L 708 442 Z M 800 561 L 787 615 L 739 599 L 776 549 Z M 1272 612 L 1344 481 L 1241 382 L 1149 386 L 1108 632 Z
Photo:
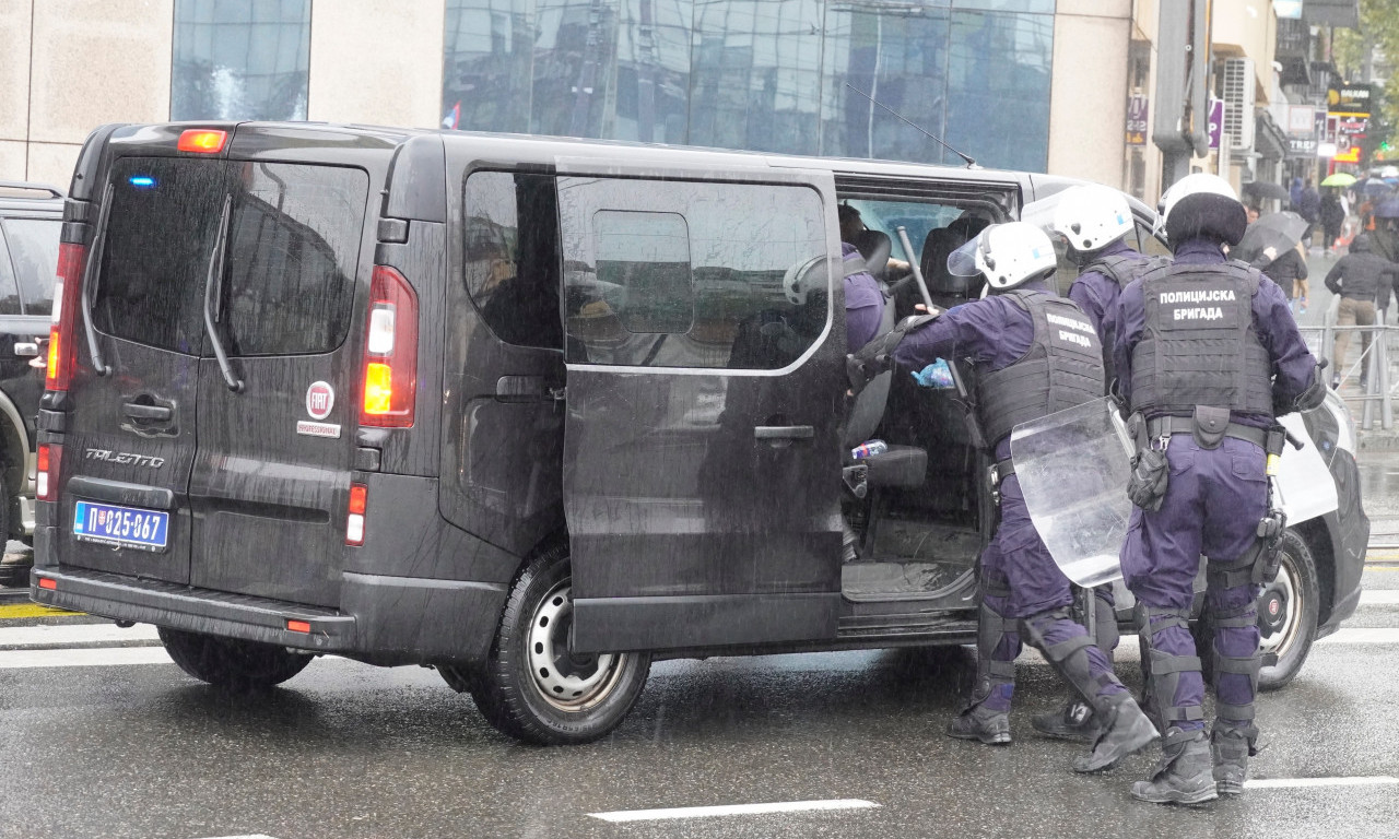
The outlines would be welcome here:
M 234 193 L 228 331 L 235 355 L 309 355 L 344 341 L 369 176 L 245 162 Z

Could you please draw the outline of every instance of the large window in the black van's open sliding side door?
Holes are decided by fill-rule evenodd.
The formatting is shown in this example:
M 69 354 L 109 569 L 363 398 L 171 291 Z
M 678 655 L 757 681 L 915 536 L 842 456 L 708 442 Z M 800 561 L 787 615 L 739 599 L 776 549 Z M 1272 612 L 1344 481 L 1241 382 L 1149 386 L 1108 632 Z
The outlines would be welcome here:
M 781 369 L 830 320 L 803 186 L 560 178 L 568 361 Z

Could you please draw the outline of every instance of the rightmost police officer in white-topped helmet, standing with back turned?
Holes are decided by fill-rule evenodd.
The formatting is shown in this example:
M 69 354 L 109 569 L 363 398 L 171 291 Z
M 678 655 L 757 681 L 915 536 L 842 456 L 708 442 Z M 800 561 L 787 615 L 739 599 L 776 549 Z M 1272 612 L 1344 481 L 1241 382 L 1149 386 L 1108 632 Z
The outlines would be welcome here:
M 1259 583 L 1276 573 L 1281 513 L 1267 453 L 1274 415 L 1321 404 L 1325 385 L 1281 289 L 1226 259 L 1247 215 L 1230 185 L 1189 175 L 1161 203 L 1174 263 L 1151 268 L 1118 302 L 1114 364 L 1137 439 L 1132 527 L 1122 573 L 1137 600 L 1149 708 L 1163 759 L 1132 794 L 1199 804 L 1240 794 L 1255 754 Z M 1266 536 L 1266 538 L 1265 538 Z M 1213 614 L 1213 731 L 1206 736 L 1200 659 L 1191 638 L 1193 580 L 1207 559 Z

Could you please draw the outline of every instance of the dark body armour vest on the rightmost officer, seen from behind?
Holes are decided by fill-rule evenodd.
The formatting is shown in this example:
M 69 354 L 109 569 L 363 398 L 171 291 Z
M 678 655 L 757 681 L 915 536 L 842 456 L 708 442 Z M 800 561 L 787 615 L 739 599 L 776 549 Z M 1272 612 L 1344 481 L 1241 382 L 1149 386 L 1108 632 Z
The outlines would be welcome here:
M 1254 329 L 1259 278 L 1238 261 L 1146 274 L 1146 326 L 1132 348 L 1133 411 L 1191 415 L 1209 406 L 1273 415 L 1273 368 Z

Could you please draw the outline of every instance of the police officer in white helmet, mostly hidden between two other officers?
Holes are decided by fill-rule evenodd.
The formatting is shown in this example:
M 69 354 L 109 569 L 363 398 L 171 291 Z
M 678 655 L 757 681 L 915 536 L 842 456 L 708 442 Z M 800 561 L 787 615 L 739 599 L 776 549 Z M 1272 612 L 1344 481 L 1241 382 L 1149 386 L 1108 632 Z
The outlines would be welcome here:
M 1079 303 L 1098 333 L 1104 347 L 1104 379 L 1111 386 L 1112 315 L 1118 295 L 1160 260 L 1128 246 L 1126 236 L 1135 224 L 1128 199 L 1121 192 L 1087 183 L 1072 186 L 1051 200 L 1055 201 L 1053 231 L 1065 239 L 1069 256 L 1079 266 L 1079 278 L 1069 287 L 1069 299 Z M 1086 600 L 1080 597 L 1079 611 L 1111 664 L 1112 650 L 1118 646 L 1112 586 L 1095 587 L 1091 601 Z M 1088 608 L 1094 610 L 1091 619 L 1087 619 Z M 1093 708 L 1081 701 L 1070 701 L 1060 712 L 1035 715 L 1030 723 L 1041 734 L 1063 740 L 1091 743 L 1097 736 Z

